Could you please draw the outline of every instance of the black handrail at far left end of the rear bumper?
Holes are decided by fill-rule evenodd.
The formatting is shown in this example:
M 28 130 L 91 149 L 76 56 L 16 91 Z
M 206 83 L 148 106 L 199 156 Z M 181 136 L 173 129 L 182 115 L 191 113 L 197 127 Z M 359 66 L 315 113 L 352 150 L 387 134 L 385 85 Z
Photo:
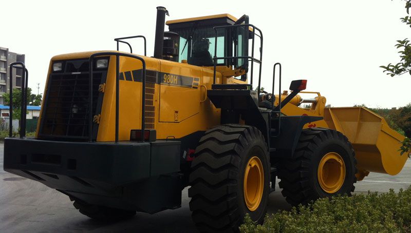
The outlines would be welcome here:
M 16 66 L 20 65 L 20 66 Z M 9 109 L 9 137 L 13 135 L 13 68 L 23 69 L 22 76 L 22 102 L 20 109 L 20 138 L 26 137 L 26 112 L 27 112 L 27 89 L 28 89 L 28 79 L 29 72 L 26 69 L 26 65 L 23 62 L 13 62 L 10 64 L 10 109 Z

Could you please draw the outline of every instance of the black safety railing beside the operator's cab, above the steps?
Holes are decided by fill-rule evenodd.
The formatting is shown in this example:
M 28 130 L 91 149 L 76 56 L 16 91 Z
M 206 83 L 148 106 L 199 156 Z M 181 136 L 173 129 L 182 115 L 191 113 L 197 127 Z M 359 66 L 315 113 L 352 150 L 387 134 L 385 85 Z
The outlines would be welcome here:
M 248 33 L 249 28 L 253 30 L 253 36 L 252 36 L 252 45 L 251 45 L 251 56 L 221 56 L 217 57 L 217 30 L 221 28 L 237 28 L 237 27 L 244 27 L 244 30 Z M 222 59 L 222 60 L 230 60 L 230 59 L 247 59 L 247 61 L 251 61 L 251 75 L 250 75 L 250 84 L 253 85 L 253 69 L 254 69 L 254 62 L 259 64 L 259 73 L 258 73 L 258 95 L 259 95 L 259 87 L 261 85 L 261 65 L 263 64 L 263 32 L 261 32 L 260 29 L 255 27 L 252 24 L 236 24 L 236 25 L 227 25 L 227 26 L 218 26 L 214 27 L 215 30 L 215 43 L 214 43 L 214 76 L 213 76 L 213 84 L 216 82 L 216 67 L 217 67 L 217 61 Z M 255 30 L 259 32 L 259 34 L 255 33 Z M 255 41 L 255 36 L 258 36 L 260 38 L 260 58 L 255 59 L 254 58 L 254 41 Z M 245 43 L 248 43 L 246 41 Z M 248 54 L 247 54 L 248 55 Z

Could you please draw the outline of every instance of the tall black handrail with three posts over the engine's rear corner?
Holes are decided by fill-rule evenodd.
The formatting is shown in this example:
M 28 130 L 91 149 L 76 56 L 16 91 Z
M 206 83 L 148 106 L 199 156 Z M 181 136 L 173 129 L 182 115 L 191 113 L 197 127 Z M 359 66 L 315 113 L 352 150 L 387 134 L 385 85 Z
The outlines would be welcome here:
M 121 52 L 99 52 L 90 55 L 88 60 L 89 62 L 89 89 L 88 89 L 88 116 L 89 116 L 89 125 L 88 125 L 88 133 L 89 133 L 89 141 L 92 141 L 92 124 L 93 124 L 93 117 L 92 117 L 92 83 L 93 83 L 93 72 L 92 72 L 92 64 L 94 57 L 96 56 L 105 56 L 105 55 L 115 55 L 116 56 L 116 143 L 119 142 L 119 96 L 120 96 L 120 56 L 127 56 L 132 57 L 134 59 L 140 60 L 143 64 L 143 75 L 142 75 L 142 108 L 141 108 L 141 140 L 144 142 L 144 131 L 145 131 L 145 61 L 140 56 L 128 54 L 128 53 L 121 53 Z

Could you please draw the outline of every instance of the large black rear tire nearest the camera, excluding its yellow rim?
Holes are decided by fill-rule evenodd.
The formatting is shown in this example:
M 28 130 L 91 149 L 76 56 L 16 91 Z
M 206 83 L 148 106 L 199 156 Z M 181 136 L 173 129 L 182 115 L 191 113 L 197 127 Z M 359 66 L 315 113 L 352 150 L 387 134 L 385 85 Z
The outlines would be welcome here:
M 247 162 L 258 156 L 264 167 L 263 197 L 255 211 L 244 198 Z M 264 221 L 270 184 L 266 141 L 252 126 L 226 124 L 208 130 L 200 139 L 191 165 L 189 197 L 192 218 L 201 232 L 237 232 L 246 213 Z

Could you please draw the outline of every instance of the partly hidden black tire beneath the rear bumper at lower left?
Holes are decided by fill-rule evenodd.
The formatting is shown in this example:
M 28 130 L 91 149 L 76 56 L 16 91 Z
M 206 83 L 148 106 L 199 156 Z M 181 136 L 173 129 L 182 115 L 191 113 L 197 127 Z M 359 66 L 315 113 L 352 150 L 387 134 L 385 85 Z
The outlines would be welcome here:
M 102 222 L 120 221 L 136 215 L 135 210 L 124 210 L 105 206 L 90 205 L 79 200 L 74 201 L 73 205 L 83 215 Z

